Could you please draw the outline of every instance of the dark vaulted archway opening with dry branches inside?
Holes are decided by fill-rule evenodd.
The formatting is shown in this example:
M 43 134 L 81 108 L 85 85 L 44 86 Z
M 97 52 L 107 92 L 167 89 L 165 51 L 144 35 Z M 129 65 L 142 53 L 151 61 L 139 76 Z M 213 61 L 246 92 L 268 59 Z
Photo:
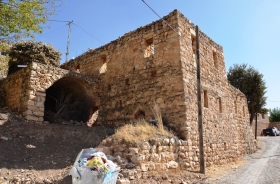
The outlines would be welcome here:
M 50 123 L 63 121 L 88 122 L 98 110 L 93 88 L 75 77 L 56 81 L 46 90 L 44 120 Z

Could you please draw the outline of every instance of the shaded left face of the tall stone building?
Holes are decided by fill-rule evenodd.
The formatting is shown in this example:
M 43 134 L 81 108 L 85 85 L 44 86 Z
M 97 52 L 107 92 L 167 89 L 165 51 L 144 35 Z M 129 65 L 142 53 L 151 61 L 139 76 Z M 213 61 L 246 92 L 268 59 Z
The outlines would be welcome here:
M 177 11 L 164 19 L 177 29 Z M 153 53 L 149 55 L 151 45 Z M 173 129 L 185 121 L 179 36 L 163 21 L 88 51 L 62 68 L 75 71 L 77 66 L 81 73 L 101 77 L 98 121 L 126 122 L 139 118 L 139 113 L 150 120 L 153 100 L 160 104 L 164 121 Z

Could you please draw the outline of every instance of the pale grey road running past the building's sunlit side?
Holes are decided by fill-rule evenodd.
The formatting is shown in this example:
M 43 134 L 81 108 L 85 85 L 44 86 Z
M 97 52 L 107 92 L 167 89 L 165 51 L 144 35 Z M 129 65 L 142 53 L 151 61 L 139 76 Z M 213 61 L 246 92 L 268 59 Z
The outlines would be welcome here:
M 280 184 L 280 137 L 258 137 L 261 150 L 235 172 L 211 184 Z

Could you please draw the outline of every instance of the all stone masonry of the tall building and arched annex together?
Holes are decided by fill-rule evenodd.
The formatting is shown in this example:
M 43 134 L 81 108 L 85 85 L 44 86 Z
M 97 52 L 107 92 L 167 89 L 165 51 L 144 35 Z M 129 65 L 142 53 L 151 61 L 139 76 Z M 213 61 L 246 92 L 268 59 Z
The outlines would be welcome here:
M 155 100 L 164 123 L 186 141 L 183 152 L 172 154 L 180 154 L 194 168 L 198 166 L 195 38 L 199 36 L 206 164 L 224 163 L 255 151 L 246 97 L 226 78 L 222 47 L 201 31 L 196 35 L 194 24 L 177 10 L 163 19 L 176 32 L 158 20 L 88 50 L 64 63 L 62 69 L 30 64 L 0 81 L 6 105 L 28 120 L 43 121 L 48 91 L 73 86 L 65 92 L 91 102 L 89 121 L 98 110 L 96 122 L 116 126 L 134 119 L 153 119 L 150 106 Z M 172 158 L 177 162 L 179 157 Z

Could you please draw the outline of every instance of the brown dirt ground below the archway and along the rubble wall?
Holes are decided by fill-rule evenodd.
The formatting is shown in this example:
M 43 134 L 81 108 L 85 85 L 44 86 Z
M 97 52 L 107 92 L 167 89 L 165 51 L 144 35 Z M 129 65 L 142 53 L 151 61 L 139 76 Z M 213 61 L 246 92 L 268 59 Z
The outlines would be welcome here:
M 8 121 L 0 118 L 0 184 L 71 184 L 68 173 L 81 149 L 96 147 L 114 131 L 81 123 L 26 122 L 15 115 L 9 115 Z M 151 174 L 130 183 L 204 183 L 205 179 L 199 173 L 178 171 Z

